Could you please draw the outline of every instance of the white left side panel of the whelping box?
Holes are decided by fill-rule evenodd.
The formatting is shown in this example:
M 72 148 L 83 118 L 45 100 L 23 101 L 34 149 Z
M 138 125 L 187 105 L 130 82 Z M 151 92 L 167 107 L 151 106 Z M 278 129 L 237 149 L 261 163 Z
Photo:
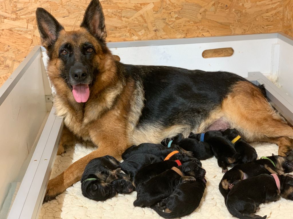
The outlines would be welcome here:
M 21 181 L 20 172 L 47 113 L 41 69 L 41 53 L 0 106 L 0 206 L 11 182 Z

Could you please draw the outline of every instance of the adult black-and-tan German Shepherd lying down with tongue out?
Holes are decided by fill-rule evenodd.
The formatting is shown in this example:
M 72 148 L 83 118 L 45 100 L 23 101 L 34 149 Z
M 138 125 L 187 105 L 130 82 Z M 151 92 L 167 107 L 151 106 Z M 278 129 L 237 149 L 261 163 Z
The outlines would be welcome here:
M 293 130 L 270 106 L 260 88 L 229 72 L 205 72 L 167 66 L 125 65 L 113 57 L 105 38 L 98 0 L 85 11 L 80 29 L 65 31 L 45 9 L 36 10 L 47 71 L 56 89 L 56 114 L 67 127 L 63 145 L 91 140 L 98 149 L 49 181 L 45 201 L 81 179 L 93 158 L 117 159 L 131 145 L 160 143 L 182 133 L 202 133 L 225 121 L 246 141 L 279 145 L 291 153 Z M 75 136 L 75 137 L 74 137 Z

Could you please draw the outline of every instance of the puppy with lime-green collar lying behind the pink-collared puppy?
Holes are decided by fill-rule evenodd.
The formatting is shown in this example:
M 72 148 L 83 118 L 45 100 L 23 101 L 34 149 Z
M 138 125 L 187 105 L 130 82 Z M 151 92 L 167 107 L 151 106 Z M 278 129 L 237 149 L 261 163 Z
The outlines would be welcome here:
M 231 188 L 240 180 L 263 173 L 284 174 L 293 171 L 293 162 L 289 161 L 286 157 L 273 155 L 268 156 L 267 158 L 268 159 L 251 161 L 246 164 L 238 164 L 224 174 L 221 182 L 219 183 L 219 190 L 224 196 L 225 201 Z

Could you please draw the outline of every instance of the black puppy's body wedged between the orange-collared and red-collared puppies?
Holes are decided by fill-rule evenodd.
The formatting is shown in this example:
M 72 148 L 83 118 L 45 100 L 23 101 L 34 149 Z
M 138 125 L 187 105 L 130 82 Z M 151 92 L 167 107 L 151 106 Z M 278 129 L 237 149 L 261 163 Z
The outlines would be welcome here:
M 130 175 L 130 180 L 134 181 L 134 176 L 137 171 L 139 171 L 142 167 L 147 166 L 149 164 L 153 164 L 156 162 L 160 162 L 161 159 L 153 154 L 133 154 L 128 157 L 122 163 L 119 164 L 119 167 L 122 171 Z

